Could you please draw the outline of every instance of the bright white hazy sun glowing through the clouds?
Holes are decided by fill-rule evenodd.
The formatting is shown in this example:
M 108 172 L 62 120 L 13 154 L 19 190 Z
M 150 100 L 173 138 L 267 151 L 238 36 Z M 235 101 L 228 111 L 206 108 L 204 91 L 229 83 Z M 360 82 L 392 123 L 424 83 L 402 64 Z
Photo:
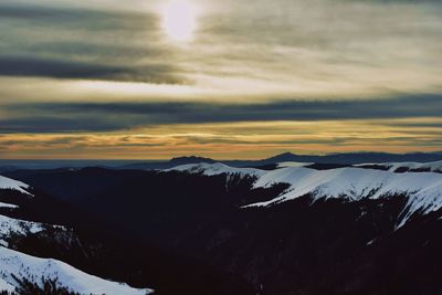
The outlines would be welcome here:
M 170 0 L 164 9 L 162 27 L 172 41 L 191 41 L 197 27 L 196 8 L 187 0 Z

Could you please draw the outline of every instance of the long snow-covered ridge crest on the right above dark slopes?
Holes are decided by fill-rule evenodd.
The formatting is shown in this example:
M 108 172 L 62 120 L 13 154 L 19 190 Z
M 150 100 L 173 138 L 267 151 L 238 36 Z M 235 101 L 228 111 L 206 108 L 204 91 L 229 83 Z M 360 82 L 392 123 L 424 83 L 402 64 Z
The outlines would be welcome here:
M 220 169 L 219 167 L 222 167 Z M 204 170 L 206 169 L 206 170 Z M 231 168 L 225 165 L 187 165 L 171 170 L 190 173 L 246 175 L 250 169 Z M 290 188 L 277 198 L 249 204 L 246 207 L 266 207 L 309 194 L 314 200 L 341 198 L 358 201 L 364 198 L 379 199 L 407 196 L 408 204 L 403 209 L 398 226 L 417 212 L 422 214 L 442 208 L 442 175 L 434 172 L 394 173 L 375 169 L 338 168 L 315 170 L 304 167 L 286 167 L 271 171 L 252 169 L 256 177 L 254 188 L 270 188 L 275 183 L 288 183 Z

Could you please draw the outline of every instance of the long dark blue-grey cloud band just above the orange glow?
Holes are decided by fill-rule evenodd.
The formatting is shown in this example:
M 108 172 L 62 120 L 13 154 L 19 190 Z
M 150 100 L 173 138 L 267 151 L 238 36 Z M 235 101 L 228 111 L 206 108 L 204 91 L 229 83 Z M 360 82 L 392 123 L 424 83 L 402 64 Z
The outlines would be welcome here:
M 39 103 L 6 109 L 23 119 L 0 119 L 2 133 L 110 131 L 162 124 L 440 117 L 442 96 L 267 104 Z

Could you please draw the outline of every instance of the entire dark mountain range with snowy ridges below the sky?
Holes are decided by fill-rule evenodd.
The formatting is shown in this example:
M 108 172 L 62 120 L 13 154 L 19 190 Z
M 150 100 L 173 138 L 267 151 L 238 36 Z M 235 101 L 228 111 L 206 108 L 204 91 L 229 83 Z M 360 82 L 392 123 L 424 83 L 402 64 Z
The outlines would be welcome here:
M 441 294 L 436 154 L 334 157 L 3 170 L 0 291 Z

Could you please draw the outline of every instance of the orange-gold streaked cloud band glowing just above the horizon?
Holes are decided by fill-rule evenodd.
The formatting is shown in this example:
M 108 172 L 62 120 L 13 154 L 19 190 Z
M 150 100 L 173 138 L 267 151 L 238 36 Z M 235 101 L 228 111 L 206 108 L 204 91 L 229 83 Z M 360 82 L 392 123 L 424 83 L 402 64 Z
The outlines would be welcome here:
M 286 150 L 440 150 L 441 131 L 434 134 L 436 129 L 433 128 L 410 129 L 394 126 L 394 122 L 398 120 L 400 122 L 383 119 L 224 123 L 149 126 L 144 129 L 103 134 L 0 134 L 0 152 L 4 158 L 15 159 L 158 159 L 177 155 L 250 159 L 269 157 Z

